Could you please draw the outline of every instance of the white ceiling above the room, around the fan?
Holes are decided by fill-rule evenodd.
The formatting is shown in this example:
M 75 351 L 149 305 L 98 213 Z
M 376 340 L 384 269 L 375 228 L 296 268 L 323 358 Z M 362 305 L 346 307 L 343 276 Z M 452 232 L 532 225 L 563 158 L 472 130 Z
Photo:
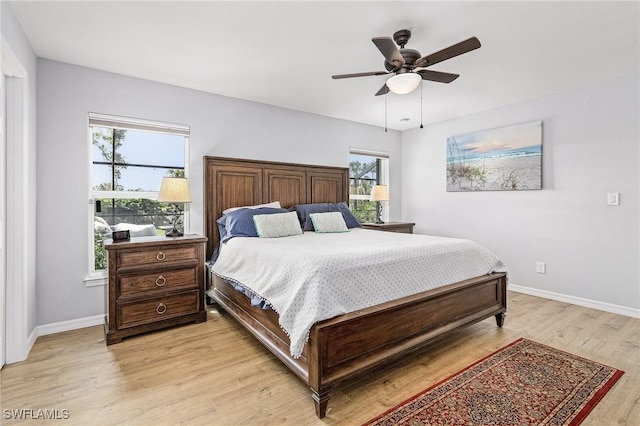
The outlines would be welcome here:
M 399 29 L 424 56 L 471 36 L 482 47 L 429 69 L 424 124 L 638 73 L 638 2 L 15 1 L 38 57 L 385 125 L 387 76 L 371 42 Z M 389 94 L 388 127 L 421 121 L 420 90 Z

